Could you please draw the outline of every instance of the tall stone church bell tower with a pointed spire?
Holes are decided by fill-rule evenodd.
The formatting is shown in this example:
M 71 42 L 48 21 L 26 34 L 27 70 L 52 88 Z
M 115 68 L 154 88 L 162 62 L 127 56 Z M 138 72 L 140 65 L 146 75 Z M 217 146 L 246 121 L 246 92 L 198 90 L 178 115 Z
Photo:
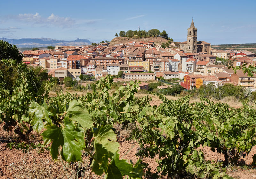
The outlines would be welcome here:
M 196 51 L 197 51 L 197 47 L 196 47 L 196 42 L 197 42 L 196 31 L 197 31 L 197 28 L 195 27 L 194 21 L 193 21 L 193 18 L 192 18 L 191 25 L 188 28 L 188 36 L 187 36 L 187 52 L 188 53 L 196 53 Z

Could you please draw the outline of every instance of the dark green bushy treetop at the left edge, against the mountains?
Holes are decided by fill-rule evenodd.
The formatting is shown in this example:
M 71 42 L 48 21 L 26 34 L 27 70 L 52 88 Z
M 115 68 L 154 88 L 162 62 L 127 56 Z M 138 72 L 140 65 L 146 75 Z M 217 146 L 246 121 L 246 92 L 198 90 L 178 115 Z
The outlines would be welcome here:
M 23 54 L 19 52 L 16 45 L 0 40 L 0 60 L 2 59 L 15 59 L 17 63 L 20 63 L 23 59 Z

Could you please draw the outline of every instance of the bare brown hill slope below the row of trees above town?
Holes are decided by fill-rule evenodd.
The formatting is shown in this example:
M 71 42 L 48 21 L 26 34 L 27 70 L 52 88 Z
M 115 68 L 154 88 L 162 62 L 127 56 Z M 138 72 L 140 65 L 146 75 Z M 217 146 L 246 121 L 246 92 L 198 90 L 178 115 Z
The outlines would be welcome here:
M 145 41 L 145 42 L 148 42 L 148 41 L 154 41 L 156 43 L 156 45 L 158 44 L 162 44 L 162 43 L 166 43 L 168 40 L 167 39 L 164 39 L 163 37 L 145 37 L 145 38 L 128 38 L 128 37 L 116 37 L 114 39 L 112 39 L 110 41 L 110 45 L 115 45 L 115 44 L 120 44 L 120 43 L 128 43 L 130 41 L 136 41 L 136 42 L 139 42 L 139 41 Z

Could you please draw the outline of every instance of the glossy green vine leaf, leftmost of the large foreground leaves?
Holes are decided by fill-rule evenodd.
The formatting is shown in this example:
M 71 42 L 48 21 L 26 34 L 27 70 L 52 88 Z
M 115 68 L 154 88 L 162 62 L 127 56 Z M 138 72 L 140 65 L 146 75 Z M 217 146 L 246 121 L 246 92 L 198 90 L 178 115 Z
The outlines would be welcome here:
M 52 107 L 48 107 L 45 101 L 43 106 L 33 101 L 29 105 L 28 114 L 30 116 L 33 116 L 30 122 L 31 125 L 33 126 L 33 129 L 36 130 L 37 132 L 40 132 L 41 129 L 44 127 L 44 121 L 47 121 L 47 123 L 50 123 L 50 124 L 52 123 L 52 120 L 49 116 L 55 115 L 56 110 Z

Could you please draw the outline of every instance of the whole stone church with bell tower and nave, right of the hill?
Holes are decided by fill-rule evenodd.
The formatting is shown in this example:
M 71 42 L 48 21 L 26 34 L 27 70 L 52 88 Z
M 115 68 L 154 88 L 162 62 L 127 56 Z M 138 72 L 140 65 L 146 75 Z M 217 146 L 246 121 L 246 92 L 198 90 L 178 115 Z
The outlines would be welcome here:
M 211 54 L 211 43 L 197 41 L 196 31 L 197 28 L 192 19 L 191 25 L 188 28 L 187 41 L 179 43 L 179 49 L 182 49 L 186 53 L 201 52 L 204 54 Z

